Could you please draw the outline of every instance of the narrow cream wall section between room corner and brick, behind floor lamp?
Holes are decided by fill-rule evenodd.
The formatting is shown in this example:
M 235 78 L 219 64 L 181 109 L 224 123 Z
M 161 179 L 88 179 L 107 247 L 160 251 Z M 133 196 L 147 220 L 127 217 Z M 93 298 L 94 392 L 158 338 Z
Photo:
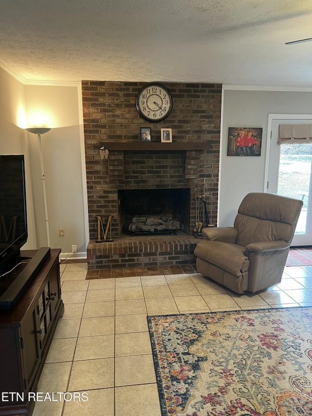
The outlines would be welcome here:
M 27 127 L 52 128 L 41 136 L 51 247 L 61 248 L 64 258 L 76 244 L 77 255 L 70 258 L 85 258 L 89 232 L 80 86 L 25 85 L 25 105 Z M 46 245 L 46 233 L 39 146 L 37 135 L 28 135 L 40 247 Z M 64 237 L 59 238 L 59 228 L 65 229 Z

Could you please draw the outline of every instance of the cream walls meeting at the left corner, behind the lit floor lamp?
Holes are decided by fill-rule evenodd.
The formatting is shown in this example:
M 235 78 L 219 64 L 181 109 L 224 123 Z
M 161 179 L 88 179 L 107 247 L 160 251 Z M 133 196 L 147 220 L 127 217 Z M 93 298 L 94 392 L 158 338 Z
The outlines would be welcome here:
M 24 154 L 28 241 L 23 249 L 46 246 L 38 137 L 26 127 L 48 126 L 41 136 L 50 245 L 61 258 L 77 245 L 86 258 L 89 242 L 86 170 L 80 83 L 26 83 L 0 61 L 0 154 Z M 59 228 L 65 236 L 59 238 Z

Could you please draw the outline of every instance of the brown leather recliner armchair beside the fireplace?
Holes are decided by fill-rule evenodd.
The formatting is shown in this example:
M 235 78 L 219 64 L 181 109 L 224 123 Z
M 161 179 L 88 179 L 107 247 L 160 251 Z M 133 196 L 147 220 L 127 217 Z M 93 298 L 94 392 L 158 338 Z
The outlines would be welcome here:
M 234 227 L 202 230 L 204 239 L 194 250 L 198 272 L 239 294 L 279 283 L 302 204 L 279 195 L 248 194 Z

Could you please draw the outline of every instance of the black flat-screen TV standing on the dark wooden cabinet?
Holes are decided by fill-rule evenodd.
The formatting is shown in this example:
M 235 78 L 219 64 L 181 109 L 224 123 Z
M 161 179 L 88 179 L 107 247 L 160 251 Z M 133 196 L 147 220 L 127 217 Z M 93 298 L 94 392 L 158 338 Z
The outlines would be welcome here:
M 0 273 L 27 241 L 23 155 L 0 155 Z

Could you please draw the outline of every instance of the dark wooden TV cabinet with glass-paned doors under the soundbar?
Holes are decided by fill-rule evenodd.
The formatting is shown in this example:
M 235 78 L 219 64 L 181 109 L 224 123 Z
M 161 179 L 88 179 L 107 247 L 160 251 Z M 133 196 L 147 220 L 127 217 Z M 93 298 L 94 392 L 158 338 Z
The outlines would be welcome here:
M 21 256 L 32 258 L 36 252 L 21 251 Z M 28 400 L 28 393 L 37 392 L 45 358 L 64 313 L 59 253 L 59 249 L 51 249 L 15 308 L 0 311 L 0 416 L 31 415 L 34 410 L 35 402 Z

